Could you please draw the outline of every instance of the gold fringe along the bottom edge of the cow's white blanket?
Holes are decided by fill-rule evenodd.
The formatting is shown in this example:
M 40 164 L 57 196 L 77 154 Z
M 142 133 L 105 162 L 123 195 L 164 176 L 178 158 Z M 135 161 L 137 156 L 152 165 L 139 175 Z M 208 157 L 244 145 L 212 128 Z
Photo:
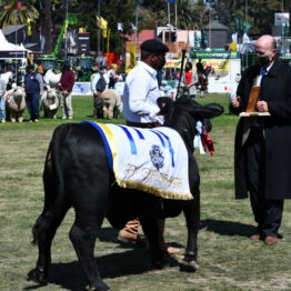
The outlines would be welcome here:
M 149 187 L 148 184 L 136 182 L 136 181 L 129 181 L 129 180 L 122 180 L 122 179 L 116 179 L 119 187 L 122 188 L 129 188 L 129 189 L 136 189 L 143 192 L 149 192 L 151 194 L 164 198 L 164 199 L 173 199 L 173 200 L 192 200 L 194 199 L 191 193 L 173 193 L 170 191 L 165 191 L 155 187 Z

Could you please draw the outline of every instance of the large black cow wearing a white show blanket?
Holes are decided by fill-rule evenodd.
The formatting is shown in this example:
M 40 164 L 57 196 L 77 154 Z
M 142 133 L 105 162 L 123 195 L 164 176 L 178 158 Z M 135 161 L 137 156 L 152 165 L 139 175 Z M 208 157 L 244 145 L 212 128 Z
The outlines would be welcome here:
M 109 169 L 106 150 L 98 131 L 88 123 L 66 123 L 56 129 L 47 153 L 43 183 L 44 208 L 32 229 L 39 247 L 37 267 L 30 279 L 47 283 L 51 264 L 51 242 L 67 211 L 73 207 L 76 221 L 70 239 L 81 263 L 90 290 L 106 291 L 93 249 L 103 219 L 121 229 L 127 221 L 140 218 L 143 232 L 149 240 L 154 268 L 163 268 L 165 253 L 159 248 L 159 223 L 161 218 L 177 217 L 183 211 L 188 241 L 182 268 L 195 271 L 197 234 L 200 221 L 199 172 L 193 157 L 193 139 L 197 120 L 218 117 L 223 112 L 218 104 L 201 106 L 182 97 L 169 109 L 165 127 L 175 129 L 189 151 L 189 180 L 193 200 L 165 200 L 150 194 L 137 194 L 114 183 Z M 161 207 L 162 205 L 162 207 Z

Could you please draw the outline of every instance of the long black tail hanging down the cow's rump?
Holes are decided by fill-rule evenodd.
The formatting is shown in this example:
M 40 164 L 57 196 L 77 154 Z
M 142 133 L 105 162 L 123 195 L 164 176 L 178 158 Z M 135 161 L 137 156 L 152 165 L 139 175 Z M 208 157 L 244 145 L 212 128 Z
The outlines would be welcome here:
M 61 215 L 63 215 L 66 192 L 61 170 L 60 148 L 69 132 L 69 127 L 70 123 L 67 123 L 56 129 L 47 152 L 43 170 L 44 207 L 36 224 L 32 227 L 33 244 L 38 242 L 40 235 L 44 234 L 53 223 L 59 223 Z

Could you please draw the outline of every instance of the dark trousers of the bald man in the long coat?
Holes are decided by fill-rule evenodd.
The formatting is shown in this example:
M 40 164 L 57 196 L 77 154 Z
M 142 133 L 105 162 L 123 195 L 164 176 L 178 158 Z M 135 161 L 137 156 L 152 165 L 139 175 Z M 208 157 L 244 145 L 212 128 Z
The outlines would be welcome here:
M 278 237 L 284 200 L 265 199 L 265 141 L 261 129 L 251 129 L 247 141 L 247 170 L 250 200 L 258 233 Z

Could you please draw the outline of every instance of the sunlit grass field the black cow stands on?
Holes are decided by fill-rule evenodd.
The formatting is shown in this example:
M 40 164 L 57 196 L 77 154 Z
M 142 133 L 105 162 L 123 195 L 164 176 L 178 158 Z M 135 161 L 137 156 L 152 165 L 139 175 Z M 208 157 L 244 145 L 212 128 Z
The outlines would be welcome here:
M 219 102 L 225 96 L 198 101 Z M 90 98 L 73 99 L 74 121 L 90 119 Z M 195 273 L 177 265 L 154 271 L 146 249 L 124 248 L 116 242 L 117 231 L 106 221 L 96 245 L 96 257 L 111 290 L 126 291 L 274 291 L 291 290 L 291 203 L 285 201 L 281 233 L 275 247 L 253 242 L 255 230 L 248 200 L 233 199 L 233 138 L 238 118 L 224 114 L 212 121 L 215 154 L 195 152 L 201 174 L 201 230 Z M 61 119 L 40 123 L 0 124 L 0 291 L 34 290 L 26 281 L 37 260 L 30 244 L 31 227 L 43 205 L 42 168 L 53 129 Z M 122 119 L 114 120 L 121 123 Z M 275 174 L 275 173 L 274 173 Z M 81 291 L 86 285 L 74 250 L 68 238 L 73 221 L 70 211 L 52 245 L 50 283 L 39 291 Z M 184 248 L 184 218 L 168 219 L 165 240 Z

